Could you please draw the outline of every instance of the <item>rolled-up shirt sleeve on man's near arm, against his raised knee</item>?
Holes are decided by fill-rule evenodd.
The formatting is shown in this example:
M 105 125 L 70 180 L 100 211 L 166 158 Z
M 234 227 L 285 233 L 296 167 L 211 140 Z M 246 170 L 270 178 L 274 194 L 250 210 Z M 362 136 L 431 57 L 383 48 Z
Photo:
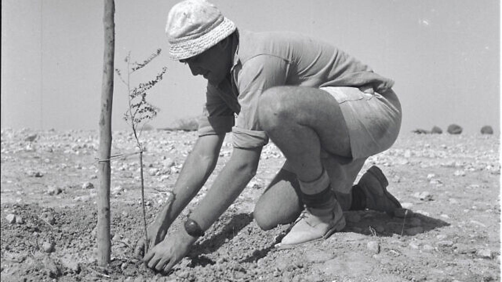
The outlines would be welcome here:
M 271 55 L 255 56 L 242 65 L 236 84 L 240 113 L 232 128 L 234 148 L 258 148 L 269 142 L 258 119 L 258 101 L 268 88 L 286 85 L 289 65 L 287 60 Z

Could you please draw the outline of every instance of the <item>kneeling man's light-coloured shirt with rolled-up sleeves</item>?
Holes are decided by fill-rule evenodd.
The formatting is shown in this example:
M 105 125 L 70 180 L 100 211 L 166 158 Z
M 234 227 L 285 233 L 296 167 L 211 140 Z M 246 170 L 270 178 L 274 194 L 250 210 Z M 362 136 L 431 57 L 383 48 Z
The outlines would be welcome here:
M 258 98 L 274 86 L 372 86 L 376 92 L 394 81 L 336 47 L 290 32 L 238 32 L 233 67 L 219 85 L 208 83 L 199 135 L 232 132 L 235 148 L 268 143 L 257 116 Z

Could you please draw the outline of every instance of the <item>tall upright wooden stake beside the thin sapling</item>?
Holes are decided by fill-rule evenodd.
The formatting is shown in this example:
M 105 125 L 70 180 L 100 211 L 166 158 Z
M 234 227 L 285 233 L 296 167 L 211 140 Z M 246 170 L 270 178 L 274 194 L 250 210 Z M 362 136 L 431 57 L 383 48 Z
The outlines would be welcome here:
M 101 115 L 99 117 L 99 191 L 97 201 L 98 264 L 110 262 L 110 152 L 111 105 L 113 101 L 113 59 L 115 53 L 115 3 L 104 0 L 104 56 L 101 84 Z

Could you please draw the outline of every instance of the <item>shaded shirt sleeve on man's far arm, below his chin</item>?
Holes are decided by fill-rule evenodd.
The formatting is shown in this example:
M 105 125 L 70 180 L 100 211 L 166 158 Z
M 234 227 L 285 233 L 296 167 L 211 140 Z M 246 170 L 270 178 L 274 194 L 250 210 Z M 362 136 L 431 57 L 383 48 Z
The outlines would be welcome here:
M 234 125 L 234 111 L 228 107 L 218 89 L 207 84 L 206 103 L 199 117 L 199 136 L 230 132 Z

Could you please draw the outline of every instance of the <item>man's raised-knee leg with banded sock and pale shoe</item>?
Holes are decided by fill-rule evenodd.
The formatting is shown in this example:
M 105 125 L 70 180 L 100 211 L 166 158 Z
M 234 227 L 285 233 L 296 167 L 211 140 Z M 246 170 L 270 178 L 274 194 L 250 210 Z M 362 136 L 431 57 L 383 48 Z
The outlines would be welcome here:
M 298 177 L 306 216 L 298 220 L 282 244 L 324 238 L 345 226 L 340 204 L 323 168 L 321 147 L 350 158 L 348 128 L 338 102 L 327 92 L 308 87 L 274 87 L 260 98 L 262 128 L 283 152 Z M 331 171 L 334 179 L 343 172 Z

